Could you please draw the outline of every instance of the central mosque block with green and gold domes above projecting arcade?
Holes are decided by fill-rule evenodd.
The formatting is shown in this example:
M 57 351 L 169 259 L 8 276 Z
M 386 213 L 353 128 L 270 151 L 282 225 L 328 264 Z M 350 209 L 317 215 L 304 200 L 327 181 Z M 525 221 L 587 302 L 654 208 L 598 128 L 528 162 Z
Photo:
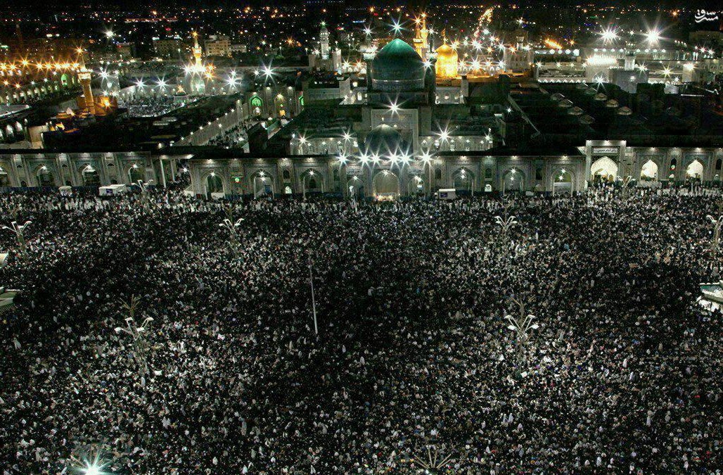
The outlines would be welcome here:
M 445 43 L 429 54 L 426 30 L 422 17 L 414 46 L 394 38 L 369 56 L 365 81 L 350 87 L 338 106 L 307 103 L 270 137 L 265 157 L 236 160 L 236 168 L 226 168 L 228 160 L 192 159 L 194 192 L 208 192 L 210 173 L 213 181 L 228 184 L 229 174 L 247 177 L 241 185 L 252 194 L 272 190 L 389 198 L 445 187 L 469 193 L 502 187 L 543 191 L 550 188 L 552 168 L 578 177 L 573 187 L 581 188 L 581 154 L 569 147 L 553 156 L 514 153 L 505 141 L 505 133 L 516 127 L 505 127 L 505 88 L 479 83 L 477 90 L 472 88 L 476 97 L 470 97 L 467 78 L 456 70 L 454 48 Z M 487 90 L 492 98 L 482 97 Z M 496 148 L 507 151 L 492 153 Z M 540 167 L 544 171 L 535 175 L 533 169 Z

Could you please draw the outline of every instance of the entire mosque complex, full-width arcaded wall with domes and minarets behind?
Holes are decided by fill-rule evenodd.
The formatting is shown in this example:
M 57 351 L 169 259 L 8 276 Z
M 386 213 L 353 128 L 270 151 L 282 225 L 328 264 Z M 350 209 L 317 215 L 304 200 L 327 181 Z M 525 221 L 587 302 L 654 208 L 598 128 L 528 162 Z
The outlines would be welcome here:
M 194 48 L 193 107 L 112 150 L 0 148 L 0 184 L 163 184 L 188 173 L 187 192 L 199 196 L 380 200 L 440 189 L 570 193 L 621 176 L 638 186 L 722 184 L 723 120 L 695 98 L 664 94 L 664 85 L 543 83 L 523 72 L 534 69 L 523 35 L 502 44 L 485 32 L 483 45 L 442 34 L 435 48 L 429 31 L 421 16 L 411 44 L 367 35 L 363 62 L 340 72 L 322 25 L 307 71 L 259 69 L 234 95 L 201 94 L 201 83 L 215 86 Z M 13 132 L 12 120 L 0 132 Z M 208 146 L 249 122 L 244 147 Z

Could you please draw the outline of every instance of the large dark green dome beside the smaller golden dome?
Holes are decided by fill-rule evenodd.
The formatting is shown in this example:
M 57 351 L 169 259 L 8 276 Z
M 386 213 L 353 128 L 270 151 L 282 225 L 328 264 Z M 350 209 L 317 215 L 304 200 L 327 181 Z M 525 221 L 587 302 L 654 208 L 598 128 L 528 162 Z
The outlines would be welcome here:
M 372 60 L 372 87 L 399 92 L 424 89 L 424 61 L 414 48 L 395 38 Z

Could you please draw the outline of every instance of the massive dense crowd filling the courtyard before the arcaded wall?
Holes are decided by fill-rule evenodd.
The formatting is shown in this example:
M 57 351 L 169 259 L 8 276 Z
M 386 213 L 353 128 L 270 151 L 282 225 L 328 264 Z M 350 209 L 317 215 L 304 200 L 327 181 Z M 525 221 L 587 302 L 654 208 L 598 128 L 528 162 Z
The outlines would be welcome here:
M 5 195 L 2 474 L 720 473 L 720 202 Z

